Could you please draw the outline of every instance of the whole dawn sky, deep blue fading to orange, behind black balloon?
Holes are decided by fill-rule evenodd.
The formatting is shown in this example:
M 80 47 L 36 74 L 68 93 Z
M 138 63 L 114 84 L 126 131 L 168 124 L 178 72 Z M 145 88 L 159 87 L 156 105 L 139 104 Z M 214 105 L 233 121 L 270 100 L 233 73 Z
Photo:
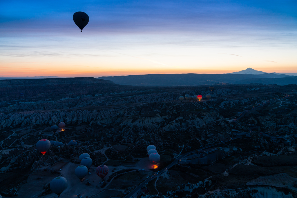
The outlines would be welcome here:
M 1 1 L 0 76 L 297 72 L 297 1 Z M 80 32 L 74 12 L 89 15 Z

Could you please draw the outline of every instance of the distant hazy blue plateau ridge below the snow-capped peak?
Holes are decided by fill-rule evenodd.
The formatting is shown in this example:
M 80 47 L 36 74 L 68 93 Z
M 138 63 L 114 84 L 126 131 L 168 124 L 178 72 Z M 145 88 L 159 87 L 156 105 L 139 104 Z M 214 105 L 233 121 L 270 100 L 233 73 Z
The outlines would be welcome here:
M 135 86 L 196 86 L 215 83 L 229 84 L 297 84 L 296 76 L 285 74 L 147 74 L 129 76 L 108 76 L 98 79 L 111 80 L 120 85 Z

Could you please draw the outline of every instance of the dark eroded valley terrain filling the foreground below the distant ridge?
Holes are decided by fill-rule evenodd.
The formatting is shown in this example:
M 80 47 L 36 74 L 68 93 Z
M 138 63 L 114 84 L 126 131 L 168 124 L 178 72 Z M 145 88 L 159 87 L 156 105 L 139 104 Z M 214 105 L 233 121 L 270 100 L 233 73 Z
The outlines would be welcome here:
M 190 151 L 195 155 L 197 149 L 219 143 L 221 148 L 214 146 L 215 159 L 204 150 L 205 158 L 199 163 L 174 164 L 139 194 L 297 197 L 297 85 L 220 83 L 210 91 L 208 85 L 150 87 L 113 82 L 92 77 L 0 80 L 2 196 L 52 198 L 49 182 L 62 173 L 68 187 L 60 197 L 78 193 L 84 198 L 125 197 L 180 155 Z M 168 85 L 172 83 L 168 80 Z M 203 99 L 178 101 L 186 94 L 200 94 Z M 49 128 L 59 122 L 65 122 L 66 128 L 54 134 Z M 235 138 L 243 133 L 247 134 Z M 64 145 L 51 146 L 42 156 L 35 148 L 40 139 Z M 79 145 L 69 146 L 70 140 Z M 161 156 L 157 169 L 147 157 L 150 144 Z M 92 168 L 109 167 L 103 185 L 98 185 L 101 179 L 95 172 L 86 176 L 90 186 L 75 177 L 81 153 L 90 154 Z

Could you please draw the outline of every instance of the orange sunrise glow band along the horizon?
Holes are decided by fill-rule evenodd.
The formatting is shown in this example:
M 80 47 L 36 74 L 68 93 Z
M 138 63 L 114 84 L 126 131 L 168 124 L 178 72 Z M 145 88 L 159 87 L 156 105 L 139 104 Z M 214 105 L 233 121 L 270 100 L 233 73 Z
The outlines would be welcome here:
M 42 66 L 42 67 L 31 67 L 26 68 L 21 66 L 22 64 L 3 64 L 0 66 L 1 77 L 34 77 L 34 76 L 57 76 L 57 77 L 101 77 L 101 76 L 121 76 L 121 75 L 146 75 L 146 74 L 188 74 L 188 73 L 198 73 L 198 74 L 225 74 L 231 72 L 238 72 L 248 67 L 252 69 L 272 73 L 295 73 L 296 66 L 282 66 L 281 68 L 263 68 L 263 67 L 253 67 L 253 66 L 241 66 L 238 69 L 138 69 L 138 70 L 129 70 L 129 69 L 96 69 L 96 68 L 78 68 L 79 66 L 64 67 L 60 66 Z M 64 67 L 64 69 L 63 69 Z M 54 69 L 56 68 L 56 69 Z

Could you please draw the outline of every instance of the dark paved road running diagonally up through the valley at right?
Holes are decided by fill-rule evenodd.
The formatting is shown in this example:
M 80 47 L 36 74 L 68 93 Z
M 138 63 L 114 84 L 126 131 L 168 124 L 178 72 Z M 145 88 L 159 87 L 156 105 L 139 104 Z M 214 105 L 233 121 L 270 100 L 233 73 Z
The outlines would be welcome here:
M 253 107 L 252 109 L 247 110 L 247 111 L 241 113 L 240 116 L 239 116 L 238 118 L 236 118 L 236 119 L 233 120 L 233 122 L 237 122 L 237 120 L 240 119 L 240 118 L 242 118 L 247 112 L 252 111 L 252 110 L 255 110 L 255 109 L 259 108 L 259 107 L 262 107 L 263 105 L 266 105 L 266 104 L 268 104 L 268 103 L 270 103 L 270 102 L 274 102 L 274 101 L 276 101 L 276 100 L 278 100 L 278 99 L 274 99 L 274 100 L 271 100 L 271 101 L 265 101 L 263 104 L 260 103 L 259 106 Z M 251 126 L 251 127 L 249 128 L 249 132 L 242 133 L 242 134 L 240 134 L 240 135 L 238 135 L 238 136 L 236 136 L 236 137 L 233 137 L 233 138 L 231 138 L 231 139 L 228 139 L 228 140 L 225 140 L 225 141 L 222 141 L 222 142 L 218 142 L 218 143 L 215 143 L 215 144 L 211 144 L 211 145 L 208 145 L 208 146 L 201 147 L 201 148 L 197 149 L 197 151 L 201 151 L 201 150 L 206 149 L 206 148 L 209 148 L 209 147 L 214 147 L 214 146 L 216 146 L 216 145 L 220 145 L 220 144 L 223 144 L 223 143 L 226 143 L 226 142 L 235 140 L 235 139 L 237 139 L 237 138 L 240 138 L 242 135 L 246 135 L 246 134 L 250 133 L 250 132 L 252 131 L 252 129 L 257 129 L 257 128 L 259 128 L 259 126 L 256 126 L 256 125 L 250 125 L 250 124 L 244 124 L 244 125 Z M 158 175 L 156 175 L 156 173 L 155 173 L 154 175 L 152 175 L 153 177 L 149 177 L 149 178 L 147 178 L 145 181 L 143 181 L 142 183 L 140 183 L 139 186 L 137 186 L 134 190 L 132 190 L 129 194 L 127 194 L 124 198 L 130 198 L 130 197 L 136 197 L 136 196 L 138 196 L 138 195 L 140 194 L 139 191 L 140 191 L 141 187 L 142 187 L 145 183 L 147 183 L 147 182 L 149 182 L 149 181 L 151 181 L 151 180 L 153 180 L 153 179 L 159 177 L 160 175 L 164 174 L 164 172 L 166 172 L 167 169 L 173 167 L 173 165 L 175 165 L 180 159 L 184 158 L 185 156 L 189 155 L 189 154 L 192 153 L 192 152 L 193 152 L 193 151 L 189 151 L 189 152 L 184 153 L 184 154 L 182 154 L 181 156 L 179 156 L 176 160 L 174 160 L 174 161 L 173 161 L 171 164 L 169 164 L 167 167 L 165 167 L 164 169 L 160 170 Z

